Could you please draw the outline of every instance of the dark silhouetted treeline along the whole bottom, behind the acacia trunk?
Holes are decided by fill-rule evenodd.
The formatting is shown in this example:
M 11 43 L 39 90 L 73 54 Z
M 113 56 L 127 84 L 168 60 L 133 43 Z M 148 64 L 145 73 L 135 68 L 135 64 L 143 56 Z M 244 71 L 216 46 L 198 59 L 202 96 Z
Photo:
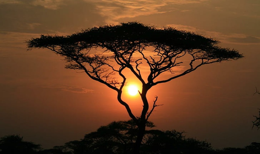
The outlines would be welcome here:
M 152 129 L 152 122 L 146 124 L 140 153 L 142 154 L 259 154 L 260 143 L 251 143 L 244 148 L 215 150 L 207 141 L 187 138 L 184 132 Z M 112 122 L 97 131 L 86 134 L 83 139 L 42 149 L 41 145 L 23 140 L 20 135 L 0 138 L 0 154 L 128 154 L 136 140 L 137 126 L 132 120 Z

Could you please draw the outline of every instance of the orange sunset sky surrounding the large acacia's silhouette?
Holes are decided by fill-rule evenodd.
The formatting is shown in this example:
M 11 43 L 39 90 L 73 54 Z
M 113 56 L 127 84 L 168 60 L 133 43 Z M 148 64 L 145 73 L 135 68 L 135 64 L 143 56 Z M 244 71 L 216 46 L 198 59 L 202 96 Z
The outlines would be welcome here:
M 105 24 L 139 21 L 216 38 L 245 58 L 200 67 L 148 93 L 159 106 L 157 129 L 187 132 L 213 148 L 260 142 L 252 128 L 260 96 L 260 1 L 255 0 L 0 0 L 0 137 L 20 134 L 44 148 L 79 140 L 99 126 L 128 120 L 116 93 L 64 69 L 45 49 L 26 51 L 40 34 L 70 35 Z M 125 97 L 138 116 L 138 97 Z

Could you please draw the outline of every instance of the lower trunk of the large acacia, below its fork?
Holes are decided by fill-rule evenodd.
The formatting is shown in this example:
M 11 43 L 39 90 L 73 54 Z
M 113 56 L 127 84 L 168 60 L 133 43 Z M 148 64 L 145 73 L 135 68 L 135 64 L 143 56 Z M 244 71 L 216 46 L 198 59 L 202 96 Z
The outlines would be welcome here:
M 135 141 L 133 154 L 139 154 L 140 153 L 141 143 L 142 143 L 143 137 L 145 135 L 145 124 L 146 124 L 146 121 L 141 120 L 139 125 L 138 125 L 137 138 L 136 138 L 136 141 Z

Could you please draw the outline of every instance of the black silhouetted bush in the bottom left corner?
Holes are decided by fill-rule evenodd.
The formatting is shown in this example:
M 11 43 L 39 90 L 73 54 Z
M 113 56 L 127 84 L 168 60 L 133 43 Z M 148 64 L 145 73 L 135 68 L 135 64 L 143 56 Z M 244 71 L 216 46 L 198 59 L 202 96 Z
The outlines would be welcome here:
M 0 154 L 34 154 L 41 150 L 40 144 L 23 141 L 20 135 L 7 135 L 0 138 Z

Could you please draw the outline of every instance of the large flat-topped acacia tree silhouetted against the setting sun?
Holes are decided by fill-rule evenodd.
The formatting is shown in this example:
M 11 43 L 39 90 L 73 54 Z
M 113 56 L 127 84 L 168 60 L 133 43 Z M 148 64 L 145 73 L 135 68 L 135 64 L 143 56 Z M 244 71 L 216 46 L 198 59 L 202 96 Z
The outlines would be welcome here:
M 138 22 L 89 28 L 69 36 L 41 35 L 27 41 L 28 50 L 50 49 L 64 57 L 65 68 L 83 70 L 91 79 L 117 92 L 117 100 L 138 127 L 134 153 L 139 153 L 145 124 L 158 106 L 156 96 L 149 109 L 146 97 L 149 89 L 202 65 L 243 57 L 234 49 L 219 47 L 218 43 L 193 32 L 172 27 L 158 29 Z M 140 116 L 135 116 L 122 99 L 126 72 L 131 72 L 142 85 Z

